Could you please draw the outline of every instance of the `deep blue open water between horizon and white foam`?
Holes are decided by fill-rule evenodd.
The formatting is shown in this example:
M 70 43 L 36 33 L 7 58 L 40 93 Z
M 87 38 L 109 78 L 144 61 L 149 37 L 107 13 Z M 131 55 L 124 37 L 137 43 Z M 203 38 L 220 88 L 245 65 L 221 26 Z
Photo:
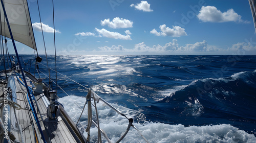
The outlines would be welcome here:
M 30 56 L 23 57 L 26 62 Z M 48 61 L 55 69 L 54 56 Z M 137 123 L 229 124 L 256 135 L 256 56 L 66 55 L 57 56 L 57 63 L 59 73 L 106 101 L 138 111 Z M 47 73 L 41 64 L 39 69 Z M 68 94 L 86 96 L 87 89 L 57 75 Z

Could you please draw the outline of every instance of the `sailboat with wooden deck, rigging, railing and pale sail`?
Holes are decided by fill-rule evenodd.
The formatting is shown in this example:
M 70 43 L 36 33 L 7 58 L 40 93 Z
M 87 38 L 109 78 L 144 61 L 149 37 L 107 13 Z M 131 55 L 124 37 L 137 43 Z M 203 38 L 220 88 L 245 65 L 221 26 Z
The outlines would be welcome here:
M 29 62 L 22 63 L 22 57 L 18 54 L 15 41 L 31 47 L 36 56 L 30 60 L 30 63 L 33 60 L 36 65 L 34 70 L 38 71 L 38 63 L 42 59 L 37 53 L 28 2 L 26 0 L 1 0 L 0 9 L 1 40 L 5 41 L 6 44 L 6 38 L 10 38 L 15 51 L 15 56 L 10 56 L 7 47 L 4 50 L 4 43 L 1 42 L 3 57 L 0 63 L 1 66 L 3 63 L 5 69 L 0 72 L 0 142 L 90 142 L 90 128 L 92 126 L 98 128 L 98 142 L 101 142 L 101 135 L 108 142 L 112 142 L 100 128 L 96 103 L 100 100 L 127 118 L 125 114 L 88 89 L 87 101 L 83 107 L 84 109 L 88 105 L 88 125 L 86 129 L 78 127 L 79 120 L 74 123 L 62 104 L 58 102 L 57 80 L 49 79 L 48 82 L 47 79 L 41 79 L 35 74 L 31 74 L 29 68 L 26 69 Z M 10 64 L 8 64 L 9 67 L 6 66 L 7 62 Z M 48 70 L 50 74 L 49 67 Z M 52 85 L 54 83 L 55 90 Z M 95 107 L 96 122 L 92 120 L 92 106 Z M 83 113 L 84 110 L 82 110 L 81 115 Z M 132 123 L 133 118 L 127 118 L 127 129 L 123 131 L 120 139 L 116 142 L 120 142 L 129 132 L 130 127 L 134 127 Z M 87 137 L 84 136 L 85 132 L 87 132 Z M 141 136 L 143 137 L 142 134 Z M 148 142 L 146 139 L 145 141 Z

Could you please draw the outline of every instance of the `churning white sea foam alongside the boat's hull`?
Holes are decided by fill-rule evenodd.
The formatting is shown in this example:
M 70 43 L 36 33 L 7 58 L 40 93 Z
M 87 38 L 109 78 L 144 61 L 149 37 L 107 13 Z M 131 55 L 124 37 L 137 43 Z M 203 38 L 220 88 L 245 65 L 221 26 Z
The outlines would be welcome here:
M 74 122 L 79 117 L 81 109 L 76 106 L 72 100 L 74 100 L 81 108 L 86 102 L 85 98 L 70 96 L 59 99 L 59 102 L 63 103 L 66 111 L 72 117 Z M 124 113 L 127 117 L 140 117 L 139 120 L 145 120 L 142 113 L 136 110 L 118 106 L 112 104 L 115 108 Z M 110 108 L 106 107 L 102 102 L 97 104 L 100 128 L 102 128 L 113 142 L 117 141 L 122 133 L 126 130 L 128 121 L 123 116 L 117 114 Z M 87 108 L 85 109 L 87 112 Z M 74 117 L 74 116 L 75 117 Z M 93 115 L 95 112 L 93 110 Z M 81 122 L 84 128 L 87 127 L 87 115 L 83 114 Z M 183 125 L 168 125 L 155 122 L 144 122 L 144 124 L 133 123 L 137 127 L 143 136 L 149 142 L 255 142 L 256 137 L 253 134 L 248 134 L 243 130 L 239 130 L 231 125 L 206 125 L 206 126 L 190 126 L 184 127 Z M 91 141 L 96 142 L 97 128 L 92 127 Z M 87 136 L 87 133 L 84 133 Z M 103 142 L 107 142 L 105 139 Z M 140 136 L 138 131 L 131 127 L 129 133 L 124 137 L 122 142 L 145 142 Z

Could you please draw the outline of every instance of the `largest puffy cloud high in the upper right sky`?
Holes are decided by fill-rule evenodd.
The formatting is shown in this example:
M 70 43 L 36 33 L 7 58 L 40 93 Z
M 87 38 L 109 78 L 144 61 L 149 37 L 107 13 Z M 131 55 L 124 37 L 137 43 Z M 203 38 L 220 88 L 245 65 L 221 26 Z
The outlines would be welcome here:
M 226 12 L 221 12 L 214 6 L 206 6 L 202 7 L 199 11 L 199 14 L 197 17 L 202 20 L 203 22 L 228 22 L 228 21 L 234 21 L 234 22 L 245 22 L 248 23 L 248 21 L 242 20 L 242 16 L 238 13 L 234 12 L 233 9 L 229 9 Z

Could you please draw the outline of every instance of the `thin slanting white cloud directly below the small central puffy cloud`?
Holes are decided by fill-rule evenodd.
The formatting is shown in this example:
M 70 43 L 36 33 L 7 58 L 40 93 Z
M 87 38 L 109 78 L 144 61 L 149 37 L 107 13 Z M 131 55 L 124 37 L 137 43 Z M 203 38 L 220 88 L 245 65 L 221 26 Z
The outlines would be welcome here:
M 105 29 L 97 29 L 95 28 L 95 30 L 103 37 L 108 37 L 108 38 L 114 38 L 114 39 L 122 39 L 122 40 L 132 40 L 130 35 L 122 35 L 118 32 L 110 32 L 108 30 Z

